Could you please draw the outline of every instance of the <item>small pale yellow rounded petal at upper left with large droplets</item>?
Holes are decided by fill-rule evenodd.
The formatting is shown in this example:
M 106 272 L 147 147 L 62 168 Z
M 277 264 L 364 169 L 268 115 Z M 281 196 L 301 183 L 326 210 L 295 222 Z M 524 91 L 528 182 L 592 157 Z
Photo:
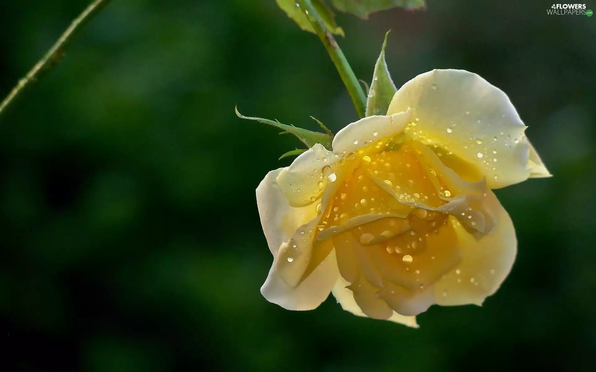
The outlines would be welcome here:
M 289 167 L 282 168 L 277 176 L 277 184 L 292 207 L 304 207 L 320 198 L 328 174 L 322 174 L 322 168 L 335 164 L 333 152 L 323 145 L 312 148 L 298 155 Z M 331 173 L 331 168 L 329 173 Z

